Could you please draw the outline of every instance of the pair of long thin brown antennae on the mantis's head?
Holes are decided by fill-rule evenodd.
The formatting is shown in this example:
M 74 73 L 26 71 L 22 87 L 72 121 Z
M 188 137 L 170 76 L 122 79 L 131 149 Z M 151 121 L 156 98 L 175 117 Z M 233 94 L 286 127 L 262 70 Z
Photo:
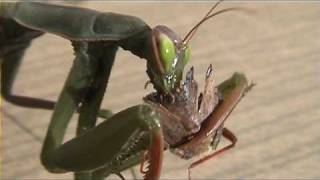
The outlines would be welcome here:
M 185 46 L 186 44 L 189 43 L 189 41 L 191 40 L 191 38 L 193 37 L 193 35 L 197 32 L 197 30 L 199 29 L 200 25 L 202 25 L 204 22 L 206 22 L 207 20 L 209 20 L 210 18 L 227 12 L 227 11 L 234 11 L 234 10 L 244 10 L 244 11 L 248 11 L 248 9 L 246 8 L 240 8 L 240 7 L 232 7 L 232 8 L 225 8 L 222 9 L 220 11 L 217 11 L 213 14 L 211 14 L 213 12 L 213 10 L 222 2 L 223 0 L 220 0 L 218 2 L 216 2 L 212 8 L 206 13 L 206 15 L 187 33 L 187 35 L 183 38 L 182 40 L 182 45 Z

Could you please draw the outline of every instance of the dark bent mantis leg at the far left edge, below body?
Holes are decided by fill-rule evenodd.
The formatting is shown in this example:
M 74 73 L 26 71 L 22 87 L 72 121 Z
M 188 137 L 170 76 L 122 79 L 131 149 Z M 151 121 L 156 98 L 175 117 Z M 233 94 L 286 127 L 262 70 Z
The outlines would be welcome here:
M 0 20 L 2 97 L 8 102 L 23 107 L 53 109 L 55 105 L 53 101 L 14 95 L 12 93 L 16 73 L 25 50 L 29 47 L 32 39 L 42 35 L 43 33 L 23 27 L 10 19 Z

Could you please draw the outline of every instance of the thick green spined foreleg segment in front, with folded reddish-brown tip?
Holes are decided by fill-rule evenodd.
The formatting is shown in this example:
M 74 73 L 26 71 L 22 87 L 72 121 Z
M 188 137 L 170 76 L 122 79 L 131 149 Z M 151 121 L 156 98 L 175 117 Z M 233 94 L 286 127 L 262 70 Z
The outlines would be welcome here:
M 160 175 L 163 152 L 159 116 L 150 105 L 138 105 L 65 143 L 53 155 L 52 161 L 69 171 L 103 168 L 101 172 L 118 173 L 127 168 L 129 162 L 132 165 L 139 162 L 137 157 L 148 147 L 150 166 L 146 177 L 156 178 Z

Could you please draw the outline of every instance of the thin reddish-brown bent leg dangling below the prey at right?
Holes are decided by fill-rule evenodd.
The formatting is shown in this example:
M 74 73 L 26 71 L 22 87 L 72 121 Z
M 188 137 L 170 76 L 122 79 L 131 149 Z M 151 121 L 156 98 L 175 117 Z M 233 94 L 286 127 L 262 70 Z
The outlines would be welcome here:
M 236 142 L 237 142 L 237 137 L 230 131 L 228 130 L 227 128 L 223 128 L 222 130 L 222 135 L 227 138 L 229 141 L 231 141 L 231 144 L 228 145 L 228 146 L 225 146 L 221 149 L 219 149 L 218 151 L 215 151 L 214 153 L 208 155 L 208 156 L 205 156 L 195 162 L 193 162 L 189 167 L 188 167 L 188 177 L 189 177 L 189 180 L 191 179 L 191 169 L 197 167 L 198 165 L 202 164 L 203 162 L 217 156 L 217 155 L 220 155 L 222 154 L 223 152 L 233 148 L 235 145 L 236 145 Z

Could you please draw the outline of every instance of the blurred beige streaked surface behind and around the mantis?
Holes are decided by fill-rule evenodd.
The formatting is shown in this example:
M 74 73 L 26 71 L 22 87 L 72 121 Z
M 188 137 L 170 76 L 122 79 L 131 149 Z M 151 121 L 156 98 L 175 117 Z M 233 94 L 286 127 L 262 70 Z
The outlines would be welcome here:
M 213 2 L 82 2 L 77 6 L 140 17 L 151 27 L 162 24 L 184 36 Z M 201 164 L 194 179 L 320 179 L 320 3 L 224 2 L 228 12 L 204 24 L 191 40 L 187 69 L 195 68 L 203 88 L 213 64 L 218 82 L 239 71 L 257 86 L 226 122 L 238 137 L 234 149 Z M 27 50 L 14 93 L 56 100 L 73 61 L 70 42 L 46 34 Z M 114 112 L 142 102 L 152 91 L 145 60 L 119 50 L 104 108 Z M 1 179 L 71 179 L 50 174 L 39 161 L 52 112 L 2 102 Z M 76 119 L 67 139 L 74 136 Z M 225 144 L 223 141 L 222 144 Z M 163 179 L 186 179 L 194 161 L 165 153 Z M 130 173 L 125 173 L 130 178 Z M 111 179 L 117 177 L 111 177 Z

